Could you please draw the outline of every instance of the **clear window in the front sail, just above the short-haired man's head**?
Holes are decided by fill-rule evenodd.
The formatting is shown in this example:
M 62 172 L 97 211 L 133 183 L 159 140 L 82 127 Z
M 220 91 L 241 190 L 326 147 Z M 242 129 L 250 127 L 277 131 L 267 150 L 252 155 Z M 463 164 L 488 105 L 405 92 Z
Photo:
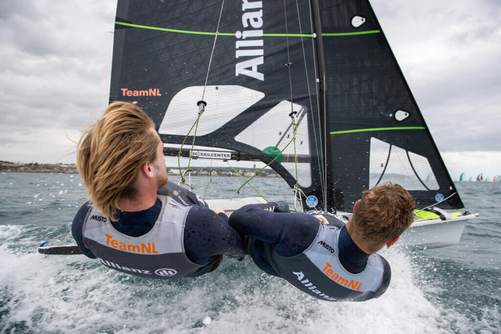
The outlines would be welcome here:
M 426 157 L 372 137 L 369 187 L 386 182 L 397 183 L 407 190 L 439 189 Z

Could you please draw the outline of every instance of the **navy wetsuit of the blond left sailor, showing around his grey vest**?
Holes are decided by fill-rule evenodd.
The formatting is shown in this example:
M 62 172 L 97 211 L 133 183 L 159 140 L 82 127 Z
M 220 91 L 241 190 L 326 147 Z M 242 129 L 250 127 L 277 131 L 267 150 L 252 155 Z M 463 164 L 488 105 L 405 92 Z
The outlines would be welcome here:
M 169 186 L 178 187 L 170 182 Z M 187 192 L 181 187 L 176 189 L 179 190 L 179 196 L 182 193 L 189 193 L 189 197 L 192 199 L 191 202 L 196 201 L 193 193 Z M 184 201 L 189 202 L 187 197 L 184 198 Z M 244 256 L 247 253 L 245 239 L 228 225 L 228 217 L 223 213 L 217 215 L 208 207 L 201 206 L 205 203 L 198 202 L 200 205 L 194 205 L 189 210 L 184 227 L 183 244 L 188 258 L 197 264 L 206 265 L 213 262 L 220 254 L 231 257 Z M 72 234 L 82 253 L 90 258 L 96 258 L 90 249 L 85 247 L 83 242 L 82 228 L 89 210 L 88 202 L 79 209 L 73 219 Z M 160 210 L 161 204 L 157 199 L 155 204 L 146 210 L 137 212 L 119 211 L 118 221 L 111 221 L 111 224 L 123 234 L 133 237 L 141 236 L 150 231 L 155 225 Z M 207 269 L 213 270 L 215 268 L 202 267 L 190 276 L 208 272 Z

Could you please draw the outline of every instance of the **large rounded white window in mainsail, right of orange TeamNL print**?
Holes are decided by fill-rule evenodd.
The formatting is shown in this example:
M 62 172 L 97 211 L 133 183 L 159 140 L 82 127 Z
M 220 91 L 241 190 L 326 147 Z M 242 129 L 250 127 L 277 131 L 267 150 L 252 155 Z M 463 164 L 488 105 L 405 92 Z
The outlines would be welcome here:
M 180 90 L 170 101 L 158 133 L 186 136 L 198 117 L 196 103 L 202 94 L 203 86 Z M 207 86 L 203 94 L 207 106 L 198 122 L 196 135 L 203 136 L 219 129 L 264 97 L 264 93 L 242 86 Z

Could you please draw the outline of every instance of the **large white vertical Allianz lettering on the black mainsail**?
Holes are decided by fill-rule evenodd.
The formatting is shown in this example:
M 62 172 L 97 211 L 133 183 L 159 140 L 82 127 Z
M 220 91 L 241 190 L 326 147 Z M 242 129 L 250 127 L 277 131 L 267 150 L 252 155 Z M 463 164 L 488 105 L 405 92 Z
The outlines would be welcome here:
M 235 76 L 240 74 L 264 81 L 265 75 L 259 72 L 258 66 L 264 64 L 263 52 L 263 2 L 242 0 L 243 28 L 252 30 L 237 31 L 235 37 L 242 39 L 235 43 L 235 58 L 245 57 L 235 64 Z M 243 41 L 244 40 L 244 41 Z M 250 58 L 252 57 L 252 58 Z

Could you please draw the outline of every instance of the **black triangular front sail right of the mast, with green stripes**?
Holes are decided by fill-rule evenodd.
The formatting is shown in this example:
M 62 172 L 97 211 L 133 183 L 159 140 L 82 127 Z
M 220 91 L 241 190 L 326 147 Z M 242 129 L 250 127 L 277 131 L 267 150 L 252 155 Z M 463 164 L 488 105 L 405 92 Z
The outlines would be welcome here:
M 330 208 L 350 211 L 364 190 L 386 181 L 409 190 L 417 207 L 455 193 L 369 2 L 322 1 L 318 16 Z M 463 207 L 457 193 L 439 206 Z

